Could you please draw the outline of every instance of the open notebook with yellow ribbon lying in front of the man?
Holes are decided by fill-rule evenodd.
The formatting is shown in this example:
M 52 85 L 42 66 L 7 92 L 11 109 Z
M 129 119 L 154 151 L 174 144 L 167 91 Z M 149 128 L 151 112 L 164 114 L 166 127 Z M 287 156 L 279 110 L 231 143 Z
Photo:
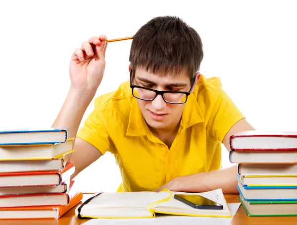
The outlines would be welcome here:
M 195 209 L 176 199 L 175 194 L 198 194 L 223 205 L 222 210 Z M 153 218 L 155 213 L 231 218 L 231 212 L 222 189 L 203 193 L 174 191 L 99 193 L 85 201 L 75 210 L 79 218 Z

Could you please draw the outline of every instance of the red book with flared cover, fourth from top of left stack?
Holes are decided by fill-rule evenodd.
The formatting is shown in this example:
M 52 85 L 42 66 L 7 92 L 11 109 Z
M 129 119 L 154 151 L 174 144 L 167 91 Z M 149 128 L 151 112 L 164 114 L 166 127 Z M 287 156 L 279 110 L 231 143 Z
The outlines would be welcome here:
M 0 173 L 0 187 L 56 186 L 66 181 L 74 170 L 74 164 L 68 162 L 63 170 Z

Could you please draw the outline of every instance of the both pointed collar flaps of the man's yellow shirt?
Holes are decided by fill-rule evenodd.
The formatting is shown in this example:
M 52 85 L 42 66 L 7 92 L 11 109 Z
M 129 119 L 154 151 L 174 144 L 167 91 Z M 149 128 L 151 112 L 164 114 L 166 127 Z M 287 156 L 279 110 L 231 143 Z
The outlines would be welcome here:
M 195 92 L 197 93 L 197 90 L 195 90 Z M 197 97 L 192 93 L 189 95 L 188 100 L 186 102 L 186 106 L 182 114 L 182 120 L 178 132 L 183 132 L 190 126 L 193 126 L 194 124 L 203 121 L 204 118 L 198 105 Z M 142 112 L 140 111 L 137 99 L 133 98 L 126 135 L 148 136 L 148 133 L 151 132 L 148 128 L 148 125 L 145 121 Z

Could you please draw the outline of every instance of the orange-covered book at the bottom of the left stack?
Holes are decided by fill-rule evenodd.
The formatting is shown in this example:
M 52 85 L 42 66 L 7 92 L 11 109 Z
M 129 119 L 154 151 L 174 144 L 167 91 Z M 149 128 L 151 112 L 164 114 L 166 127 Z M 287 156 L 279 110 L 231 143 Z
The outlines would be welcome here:
M 83 194 L 76 192 L 69 204 L 65 206 L 2 208 L 0 219 L 58 219 L 76 206 L 82 198 Z

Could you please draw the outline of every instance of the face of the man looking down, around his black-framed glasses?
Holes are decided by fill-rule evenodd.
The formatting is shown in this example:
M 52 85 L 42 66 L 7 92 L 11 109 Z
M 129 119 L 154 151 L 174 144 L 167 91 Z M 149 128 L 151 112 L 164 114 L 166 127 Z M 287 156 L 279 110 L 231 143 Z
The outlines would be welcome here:
M 189 76 L 185 72 L 182 72 L 179 76 L 172 76 L 170 74 L 162 76 L 140 69 L 136 69 L 132 83 L 158 91 L 184 92 L 188 92 L 192 85 Z M 153 129 L 165 130 L 176 128 L 186 104 L 166 103 L 161 95 L 156 96 L 153 101 L 140 99 L 137 99 L 137 101 L 148 125 Z

